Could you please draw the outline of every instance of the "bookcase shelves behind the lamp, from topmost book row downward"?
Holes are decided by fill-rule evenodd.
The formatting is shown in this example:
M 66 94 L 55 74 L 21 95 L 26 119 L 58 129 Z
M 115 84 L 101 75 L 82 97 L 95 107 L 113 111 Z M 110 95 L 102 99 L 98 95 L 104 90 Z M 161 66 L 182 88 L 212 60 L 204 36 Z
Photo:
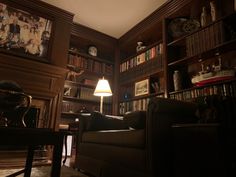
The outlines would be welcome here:
M 69 50 L 67 68 L 62 117 L 73 120 L 81 112 L 99 111 L 100 97 L 94 96 L 93 92 L 99 78 L 111 78 L 113 75 L 112 62 Z M 104 99 L 104 104 L 105 112 L 110 113 L 111 98 Z

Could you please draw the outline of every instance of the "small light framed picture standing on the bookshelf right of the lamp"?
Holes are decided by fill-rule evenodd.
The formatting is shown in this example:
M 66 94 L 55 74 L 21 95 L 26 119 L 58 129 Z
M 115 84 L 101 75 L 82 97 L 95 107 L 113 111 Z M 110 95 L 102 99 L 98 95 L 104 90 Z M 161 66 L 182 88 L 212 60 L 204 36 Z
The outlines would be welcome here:
M 134 96 L 145 95 L 149 93 L 149 79 L 135 83 Z

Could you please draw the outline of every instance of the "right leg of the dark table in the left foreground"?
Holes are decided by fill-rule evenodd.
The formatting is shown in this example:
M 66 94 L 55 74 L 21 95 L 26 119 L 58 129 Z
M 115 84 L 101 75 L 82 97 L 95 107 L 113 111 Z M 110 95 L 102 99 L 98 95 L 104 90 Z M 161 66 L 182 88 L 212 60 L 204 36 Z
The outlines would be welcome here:
M 61 173 L 61 158 L 62 158 L 63 138 L 53 148 L 53 160 L 51 177 L 60 177 Z

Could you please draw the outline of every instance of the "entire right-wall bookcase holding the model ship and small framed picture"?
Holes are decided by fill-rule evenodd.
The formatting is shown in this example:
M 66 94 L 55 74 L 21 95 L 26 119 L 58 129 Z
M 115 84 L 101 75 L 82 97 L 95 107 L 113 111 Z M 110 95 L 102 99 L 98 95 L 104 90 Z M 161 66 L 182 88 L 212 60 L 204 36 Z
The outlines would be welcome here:
M 214 13 L 210 2 L 214 4 Z M 157 96 L 185 101 L 214 94 L 235 97 L 234 3 L 234 0 L 168 1 L 122 36 L 116 66 L 118 114 L 146 110 L 149 99 Z M 203 7 L 205 24 L 201 22 Z M 138 41 L 146 48 L 136 52 Z M 175 71 L 180 73 L 178 90 L 174 87 Z M 234 74 L 224 77 L 227 72 Z M 193 78 L 196 80 L 199 73 L 206 74 L 204 77 L 218 77 L 220 73 L 223 77 L 195 82 Z M 135 96 L 135 83 L 145 79 L 149 80 L 148 94 Z

